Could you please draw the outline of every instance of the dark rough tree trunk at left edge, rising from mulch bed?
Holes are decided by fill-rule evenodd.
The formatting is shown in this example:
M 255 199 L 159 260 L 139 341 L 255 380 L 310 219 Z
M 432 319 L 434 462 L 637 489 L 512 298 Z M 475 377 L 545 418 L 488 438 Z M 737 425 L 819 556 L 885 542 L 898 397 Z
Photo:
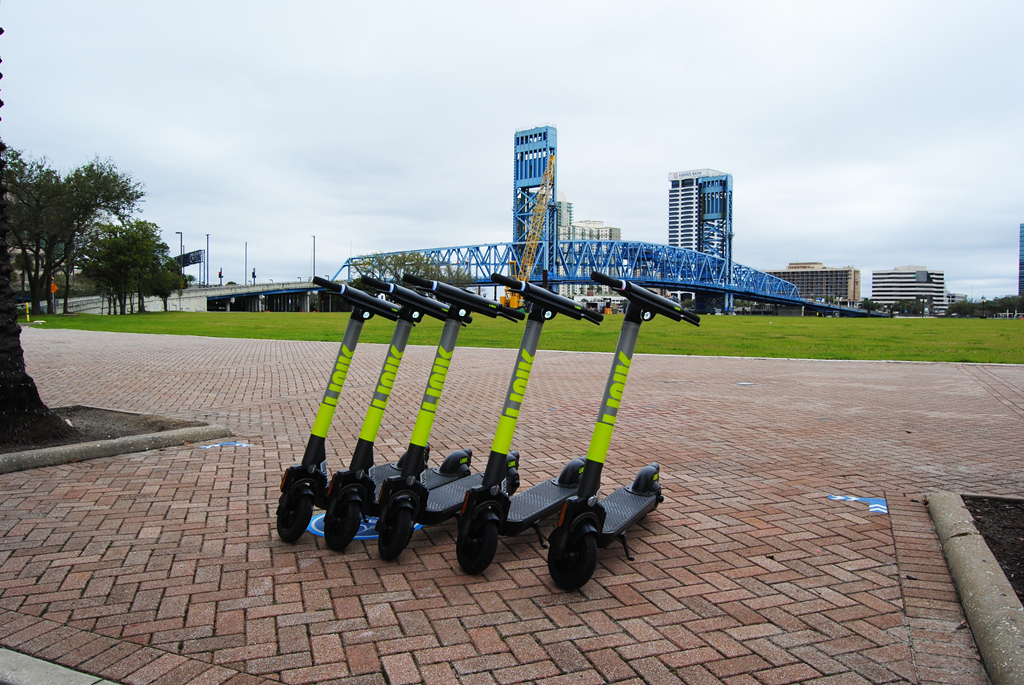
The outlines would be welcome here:
M 0 152 L 6 148 L 0 142 Z M 0 160 L 0 198 L 7 195 L 3 182 L 6 163 Z M 20 444 L 33 436 L 68 435 L 73 431 L 60 417 L 51 413 L 39 397 L 35 381 L 25 370 L 22 328 L 17 325 L 17 304 L 10 277 L 7 243 L 6 204 L 0 203 L 0 444 Z

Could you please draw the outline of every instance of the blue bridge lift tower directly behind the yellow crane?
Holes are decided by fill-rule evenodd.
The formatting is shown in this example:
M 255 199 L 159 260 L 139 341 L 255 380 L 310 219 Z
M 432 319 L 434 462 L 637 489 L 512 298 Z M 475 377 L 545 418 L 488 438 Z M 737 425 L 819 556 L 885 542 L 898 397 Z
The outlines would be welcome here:
M 537 245 L 534 268 L 526 275 L 529 281 L 547 282 L 554 271 L 556 243 L 558 241 L 557 175 L 549 174 L 550 185 L 545 185 L 545 171 L 554 160 L 558 146 L 558 130 L 554 126 L 538 126 L 515 132 L 514 187 L 512 196 L 512 243 L 515 259 L 522 262 L 529 241 L 530 221 L 538 201 L 547 205 L 544 210 L 544 227 Z M 557 167 L 556 167 L 557 169 Z M 542 192 L 545 189 L 545 192 Z M 512 269 L 515 271 L 516 269 Z

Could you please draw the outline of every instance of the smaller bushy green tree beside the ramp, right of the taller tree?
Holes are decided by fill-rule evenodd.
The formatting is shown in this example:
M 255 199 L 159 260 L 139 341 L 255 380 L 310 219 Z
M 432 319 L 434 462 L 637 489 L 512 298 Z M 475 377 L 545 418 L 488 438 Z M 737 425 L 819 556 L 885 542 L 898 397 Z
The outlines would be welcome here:
M 155 223 L 136 219 L 100 224 L 88 241 L 82 272 L 117 299 L 122 314 L 127 313 L 129 297 L 136 294 L 139 310 L 144 311 L 141 303 L 153 292 L 153 279 L 166 268 L 168 252 Z M 166 299 L 164 304 L 166 307 Z

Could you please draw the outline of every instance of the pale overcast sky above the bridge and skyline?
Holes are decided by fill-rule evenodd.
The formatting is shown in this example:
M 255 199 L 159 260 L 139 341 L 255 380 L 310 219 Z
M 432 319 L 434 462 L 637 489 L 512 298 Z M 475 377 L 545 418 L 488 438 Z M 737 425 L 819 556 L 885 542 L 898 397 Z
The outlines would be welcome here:
M 734 254 L 1017 291 L 1024 3 L 4 0 L 3 122 L 145 183 L 214 276 L 511 240 L 517 128 L 577 219 L 668 241 L 667 175 L 734 179 Z M 198 273 L 199 267 L 191 267 Z

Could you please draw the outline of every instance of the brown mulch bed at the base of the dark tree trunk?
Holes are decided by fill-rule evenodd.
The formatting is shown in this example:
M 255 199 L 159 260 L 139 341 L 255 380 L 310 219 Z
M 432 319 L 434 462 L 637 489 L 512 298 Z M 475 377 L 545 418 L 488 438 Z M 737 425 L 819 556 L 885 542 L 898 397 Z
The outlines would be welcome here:
M 174 430 L 175 428 L 190 428 L 193 426 L 206 425 L 200 421 L 168 419 L 167 417 L 155 414 L 131 414 L 129 412 L 115 412 L 113 410 L 81 406 L 78 404 L 74 406 L 61 406 L 53 410 L 53 413 L 71 423 L 71 427 L 74 430 L 71 431 L 72 434 L 70 436 L 54 438 L 47 433 L 35 434 L 29 440 L 14 444 L 0 445 L 0 454 L 20 452 L 23 449 L 55 447 L 61 444 L 110 440 L 128 435 L 162 433 L 166 430 Z

